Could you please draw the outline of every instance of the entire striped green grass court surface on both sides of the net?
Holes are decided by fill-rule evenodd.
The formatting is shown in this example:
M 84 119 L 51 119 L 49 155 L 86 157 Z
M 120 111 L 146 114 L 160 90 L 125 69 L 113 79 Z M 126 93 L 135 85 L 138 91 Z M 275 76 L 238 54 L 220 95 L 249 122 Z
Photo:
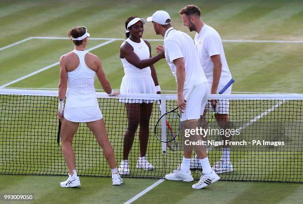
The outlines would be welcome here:
M 223 40 L 303 41 L 303 27 L 300 26 L 303 19 L 301 0 L 193 0 L 188 2 L 181 0 L 87 0 L 85 3 L 82 0 L 74 0 L 72 3 L 70 0 L 2 0 L 0 1 L 0 30 L 3 32 L 1 32 L 0 48 L 32 36 L 66 37 L 68 30 L 76 25 L 85 25 L 91 37 L 124 38 L 124 22 L 129 16 L 137 15 L 146 18 L 159 9 L 170 13 L 174 28 L 187 32 L 193 37 L 195 33 L 190 33 L 183 26 L 178 14 L 180 8 L 186 4 L 200 6 L 202 20 L 214 27 Z M 156 36 L 152 24 L 147 23 L 144 39 L 162 39 L 162 37 Z M 90 40 L 88 48 L 103 42 L 105 41 Z M 103 69 L 114 89 L 120 89 L 123 77 L 123 67 L 119 58 L 121 43 L 122 41 L 115 41 L 92 51 L 101 58 Z M 161 42 L 151 42 L 153 55 L 156 53 L 154 48 L 158 44 Z M 32 39 L 0 51 L 0 86 L 57 62 L 62 54 L 72 49 L 70 40 Z M 302 44 L 225 42 L 224 51 L 236 81 L 233 91 L 303 93 Z M 162 90 L 176 90 L 175 79 L 165 60 L 157 62 L 155 68 Z M 54 66 L 14 83 L 9 88 L 57 88 L 58 75 L 58 66 Z M 97 89 L 101 89 L 97 79 L 95 84 Z M 7 99 L 6 102 L 10 100 Z M 3 103 L 3 100 L 0 104 L 1 102 Z M 49 115 L 50 118 L 42 119 L 41 116 L 33 114 L 34 109 L 22 110 L 21 107 L 26 104 L 28 103 L 16 103 L 17 106 L 10 106 L 8 109 L 0 105 L 0 146 L 2 147 L 0 163 L 5 163 L 8 171 L 14 173 L 31 174 L 39 170 L 45 174 L 64 174 L 66 170 L 61 168 L 64 166 L 64 160 L 54 138 L 56 129 L 49 127 L 49 125 L 56 126 L 55 99 L 53 98 L 53 102 L 50 102 L 51 106 L 43 107 L 46 111 L 53 112 L 53 115 Z M 37 100 L 36 104 L 39 105 L 40 102 Z M 237 106 L 237 104 L 233 105 Z M 270 107 L 271 105 L 267 105 L 255 110 L 250 105 L 246 105 L 248 114 L 240 119 L 243 122 L 249 121 Z M 283 118 L 280 113 L 285 110 L 290 113 L 294 111 L 294 114 Z M 126 120 L 122 117 L 125 116 L 125 110 L 121 107 L 121 110 L 115 113 L 120 114 L 119 118 L 122 119 L 117 121 L 108 119 L 107 122 L 106 118 L 112 118 L 113 113 L 102 111 L 113 146 L 121 146 L 122 133 L 126 126 Z M 262 121 L 300 122 L 302 120 L 300 113 L 301 106 L 286 102 L 270 112 Z M 20 120 L 16 121 L 14 116 Z M 152 124 L 156 117 L 152 119 Z M 231 119 L 233 118 L 239 119 L 239 115 L 231 115 Z M 258 128 L 258 125 L 254 124 L 251 128 Z M 299 140 L 302 135 L 295 130 L 294 126 L 286 132 L 285 139 L 289 142 L 286 148 L 300 148 L 300 145 L 302 148 L 302 140 Z M 301 134 L 302 130 L 299 131 Z M 84 126 L 81 127 L 78 135 L 83 133 L 89 133 Z M 256 137 L 262 138 L 263 134 L 260 131 Z M 242 137 L 250 137 L 250 131 L 244 131 Z M 29 141 L 32 146 L 29 146 Z M 81 148 L 80 144 L 84 142 L 90 144 L 89 150 Z M 41 143 L 49 145 L 42 148 Z M 75 148 L 80 174 L 100 175 L 102 172 L 104 175 L 110 175 L 107 165 L 103 162 L 102 150 L 96 145 L 93 135 L 88 138 L 77 136 Z M 264 155 L 265 152 L 252 151 L 252 148 L 234 151 L 232 159 L 234 159 L 235 171 L 223 174 L 222 179 L 275 180 L 276 178 L 272 175 L 276 175 L 291 181 L 302 181 L 302 149 L 288 153 L 273 147 L 265 148 L 267 156 Z M 120 160 L 122 151 L 119 149 L 115 151 L 117 160 Z M 164 175 L 175 168 L 173 165 L 181 159 L 180 151 L 168 153 L 167 169 L 157 168 L 154 171 L 145 172 L 135 169 L 138 152 L 139 144 L 138 140 L 135 140 L 130 156 L 132 175 L 141 174 L 146 177 Z M 161 146 L 154 137 L 150 139 L 148 153 L 152 155 L 149 158 L 152 163 L 162 168 L 164 158 L 161 155 Z M 211 163 L 219 158 L 219 154 L 219 148 L 209 153 Z M 90 155 L 90 160 L 81 159 L 82 155 Z M 171 162 L 174 164 L 172 165 Z M 246 162 L 247 166 L 241 165 L 242 162 Z M 249 166 L 250 162 L 252 165 Z M 290 163 L 291 166 L 289 166 Z M 260 168 L 253 164 L 266 166 L 268 171 L 260 171 Z M 3 166 L 0 166 L 0 172 L 8 173 L 1 170 Z M 285 172 L 288 173 L 285 174 Z M 198 176 L 195 173 L 195 177 L 198 178 Z M 122 186 L 112 187 L 110 178 L 82 176 L 81 188 L 62 189 L 59 187 L 59 182 L 65 178 L 65 176 L 0 175 L 0 194 L 33 193 L 34 203 L 124 203 L 157 181 L 125 178 Z M 193 183 L 165 181 L 136 202 L 301 203 L 303 195 L 300 184 L 217 182 L 204 190 L 197 191 L 191 189 Z

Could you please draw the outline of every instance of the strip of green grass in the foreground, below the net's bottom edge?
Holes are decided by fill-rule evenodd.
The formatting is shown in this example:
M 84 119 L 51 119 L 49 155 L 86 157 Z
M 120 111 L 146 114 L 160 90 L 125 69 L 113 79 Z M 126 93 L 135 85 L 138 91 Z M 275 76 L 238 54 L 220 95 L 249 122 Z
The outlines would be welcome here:
M 0 175 L 0 193 L 31 194 L 37 204 L 121 204 L 157 181 L 124 178 L 123 185 L 111 186 L 110 178 L 81 177 L 80 188 L 62 189 L 59 182 L 65 179 L 65 176 Z M 135 203 L 301 203 L 303 193 L 301 184 L 218 182 L 212 188 L 195 190 L 191 188 L 193 183 L 164 181 Z

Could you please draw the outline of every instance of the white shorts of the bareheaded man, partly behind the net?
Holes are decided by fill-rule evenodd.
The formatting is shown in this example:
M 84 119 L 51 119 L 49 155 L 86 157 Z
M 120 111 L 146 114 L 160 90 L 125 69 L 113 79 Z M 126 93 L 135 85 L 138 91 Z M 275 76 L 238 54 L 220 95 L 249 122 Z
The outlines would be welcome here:
M 209 86 L 211 87 L 211 83 L 209 83 Z M 221 91 L 224 86 L 225 85 L 218 86 L 218 89 L 217 89 L 218 92 Z M 231 94 L 231 90 L 232 90 L 232 86 L 228 87 L 222 95 Z M 208 110 L 208 109 L 212 110 L 212 106 L 211 106 L 211 103 L 207 101 L 205 110 Z M 216 107 L 215 107 L 215 113 L 229 114 L 229 100 L 218 100 L 218 102 L 216 103 Z M 203 114 L 203 112 L 202 112 L 202 114 Z

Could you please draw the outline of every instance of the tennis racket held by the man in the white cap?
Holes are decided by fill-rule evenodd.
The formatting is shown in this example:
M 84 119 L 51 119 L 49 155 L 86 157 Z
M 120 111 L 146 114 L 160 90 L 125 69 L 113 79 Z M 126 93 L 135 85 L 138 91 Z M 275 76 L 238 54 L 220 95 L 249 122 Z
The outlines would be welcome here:
M 192 94 L 192 92 L 194 91 L 194 89 L 196 88 L 196 85 L 193 85 L 190 90 L 188 91 L 188 93 L 185 96 L 184 101 L 186 102 L 188 100 L 188 98 L 190 97 L 190 95 Z M 169 143 L 173 140 L 175 140 L 175 138 L 179 135 L 182 134 L 180 133 L 181 131 L 181 121 L 180 121 L 180 114 L 177 112 L 178 107 L 175 107 L 174 109 L 166 112 L 165 114 L 163 114 L 158 121 L 156 122 L 155 126 L 154 126 L 154 134 L 156 136 L 156 138 L 162 142 L 162 143 Z M 165 129 L 166 132 L 165 134 L 162 134 L 163 129 L 161 128 L 162 126 L 165 125 Z M 176 141 L 176 144 L 177 141 Z M 171 146 L 170 146 L 171 147 Z M 174 150 L 174 148 L 169 148 Z

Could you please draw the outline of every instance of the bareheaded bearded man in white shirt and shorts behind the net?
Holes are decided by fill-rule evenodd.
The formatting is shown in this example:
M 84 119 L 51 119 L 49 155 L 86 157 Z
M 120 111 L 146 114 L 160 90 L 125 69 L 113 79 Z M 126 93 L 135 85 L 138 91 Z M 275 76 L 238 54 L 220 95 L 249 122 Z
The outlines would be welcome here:
M 218 94 L 219 91 L 232 79 L 227 61 L 225 58 L 222 40 L 219 33 L 212 27 L 206 25 L 201 20 L 201 11 L 196 5 L 187 5 L 179 11 L 182 21 L 188 29 L 196 31 L 195 45 L 198 50 L 200 62 L 202 64 L 205 76 L 209 83 L 210 94 Z M 224 94 L 231 94 L 230 86 Z M 229 128 L 229 101 L 228 100 L 211 100 L 206 104 L 206 109 L 213 108 L 215 118 L 219 126 L 223 129 Z M 204 115 L 201 117 L 205 120 Z M 222 140 L 231 140 L 231 137 L 222 136 Z M 192 159 L 191 168 L 200 168 L 197 157 Z M 222 146 L 222 158 L 215 162 L 212 169 L 216 173 L 225 173 L 233 171 L 230 161 L 230 146 Z

